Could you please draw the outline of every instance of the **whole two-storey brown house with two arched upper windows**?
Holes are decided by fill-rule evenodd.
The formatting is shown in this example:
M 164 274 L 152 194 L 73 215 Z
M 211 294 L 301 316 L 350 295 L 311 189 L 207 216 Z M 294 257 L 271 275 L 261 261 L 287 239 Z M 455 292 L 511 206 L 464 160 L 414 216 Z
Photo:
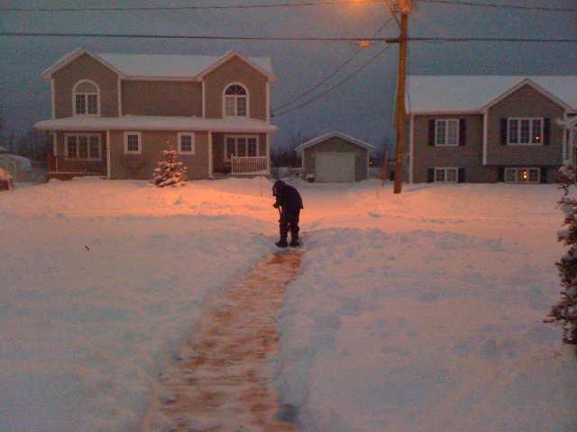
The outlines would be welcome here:
M 60 58 L 50 81 L 49 177 L 150 178 L 168 145 L 188 178 L 269 173 L 269 58 L 96 54 Z

